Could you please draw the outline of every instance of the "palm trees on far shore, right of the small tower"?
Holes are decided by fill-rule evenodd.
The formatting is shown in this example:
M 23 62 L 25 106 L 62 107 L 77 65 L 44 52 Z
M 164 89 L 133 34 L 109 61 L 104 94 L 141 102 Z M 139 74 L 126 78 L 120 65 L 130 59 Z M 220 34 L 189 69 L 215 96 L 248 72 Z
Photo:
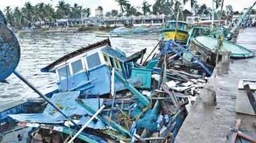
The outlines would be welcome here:
M 139 16 L 139 15 L 177 15 L 180 6 L 189 3 L 191 7 L 191 12 L 196 15 L 208 15 L 211 11 L 211 8 L 207 8 L 206 4 L 198 4 L 197 0 L 182 0 L 182 2 L 178 0 L 156 0 L 156 2 L 152 5 L 149 4 L 146 0 L 141 3 L 141 6 L 132 6 L 128 0 L 115 0 L 120 6 L 120 13 L 118 10 L 111 10 L 106 13 L 106 17 L 122 17 L 125 16 Z M 224 0 L 223 0 L 224 1 Z M 216 9 L 220 8 L 221 0 L 214 0 L 214 6 Z M 226 11 L 223 11 L 222 15 L 224 16 L 232 16 L 234 13 L 231 5 L 226 6 Z M 236 11 L 236 14 L 239 14 Z M 220 10 L 218 11 L 220 14 Z

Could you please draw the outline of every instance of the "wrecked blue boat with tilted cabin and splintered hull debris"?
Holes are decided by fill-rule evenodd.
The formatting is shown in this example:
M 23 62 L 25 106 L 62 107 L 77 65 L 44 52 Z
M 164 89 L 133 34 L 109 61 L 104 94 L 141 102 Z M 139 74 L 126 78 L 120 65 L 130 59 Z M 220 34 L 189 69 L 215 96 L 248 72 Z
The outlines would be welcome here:
M 174 96 L 165 84 L 157 86 L 166 80 L 152 84 L 153 72 L 161 77 L 154 69 L 158 60 L 140 66 L 136 63 L 143 54 L 145 50 L 127 57 L 107 39 L 60 57 L 41 70 L 56 74 L 58 81 L 58 89 L 46 94 L 47 106 L 39 106 L 43 112 L 8 116 L 19 126 L 33 127 L 31 140 L 63 142 L 84 124 L 76 142 L 160 141 L 170 132 L 174 140 L 188 100 Z M 152 139 L 159 131 L 159 139 Z

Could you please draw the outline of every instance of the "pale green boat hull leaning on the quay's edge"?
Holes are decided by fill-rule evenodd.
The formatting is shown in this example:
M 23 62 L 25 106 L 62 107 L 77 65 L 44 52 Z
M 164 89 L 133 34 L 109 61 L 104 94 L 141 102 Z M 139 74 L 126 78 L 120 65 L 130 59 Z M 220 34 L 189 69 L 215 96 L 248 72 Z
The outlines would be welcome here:
M 211 36 L 198 36 L 193 40 L 193 43 L 205 50 L 215 52 L 218 39 Z M 226 40 L 223 41 L 223 45 L 221 46 L 220 50 L 230 51 L 230 58 L 232 59 L 244 59 L 255 56 L 255 53 L 251 50 L 248 50 L 241 45 L 237 45 L 236 43 L 232 43 L 231 41 Z

